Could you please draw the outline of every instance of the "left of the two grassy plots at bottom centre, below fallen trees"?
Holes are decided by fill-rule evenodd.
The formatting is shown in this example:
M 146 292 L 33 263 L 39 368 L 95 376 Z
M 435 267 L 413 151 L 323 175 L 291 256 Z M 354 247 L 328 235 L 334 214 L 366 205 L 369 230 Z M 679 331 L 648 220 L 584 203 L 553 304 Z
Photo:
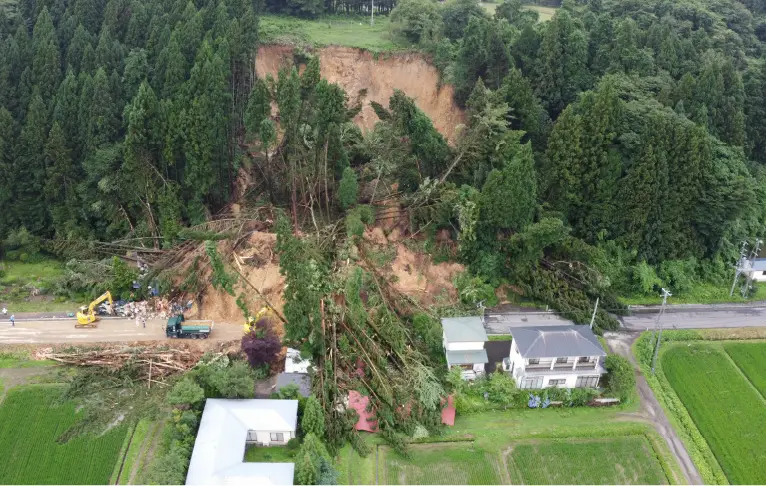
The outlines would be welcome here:
M 496 454 L 469 442 L 413 445 L 409 459 L 385 453 L 381 484 L 500 484 Z

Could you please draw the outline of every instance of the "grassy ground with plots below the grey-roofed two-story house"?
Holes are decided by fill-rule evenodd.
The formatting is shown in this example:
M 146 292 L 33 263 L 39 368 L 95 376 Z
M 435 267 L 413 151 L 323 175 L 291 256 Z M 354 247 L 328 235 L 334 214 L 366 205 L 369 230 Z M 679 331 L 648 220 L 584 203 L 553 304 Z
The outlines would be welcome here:
M 335 465 L 340 484 L 683 482 L 665 442 L 650 425 L 632 422 L 624 412 L 567 408 L 458 415 L 441 437 L 453 442 L 410 444 L 411 456 L 404 458 L 365 434 L 373 452 L 360 458 L 344 448 Z M 530 452 L 535 449 L 542 452 Z

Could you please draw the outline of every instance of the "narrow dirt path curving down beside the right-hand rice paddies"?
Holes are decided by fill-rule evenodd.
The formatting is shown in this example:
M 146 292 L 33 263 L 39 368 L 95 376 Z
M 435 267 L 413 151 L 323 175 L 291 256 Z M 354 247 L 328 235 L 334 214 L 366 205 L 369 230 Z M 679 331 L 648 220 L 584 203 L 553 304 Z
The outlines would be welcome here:
M 640 408 L 638 412 L 626 413 L 625 416 L 651 422 L 654 429 L 665 440 L 670 452 L 678 461 L 678 465 L 681 467 L 681 471 L 683 472 L 686 481 L 689 484 L 703 484 L 702 476 L 700 476 L 699 471 L 697 471 L 697 466 L 694 465 L 694 461 L 692 461 L 689 456 L 686 446 L 676 434 L 675 429 L 665 415 L 665 411 L 662 409 L 662 406 L 660 406 L 657 398 L 655 398 L 652 389 L 649 388 L 646 378 L 644 378 L 644 375 L 641 374 L 638 369 L 638 363 L 633 357 L 633 353 L 630 349 L 633 341 L 635 341 L 638 336 L 638 333 L 604 334 L 609 349 L 630 361 L 630 364 L 636 372 L 636 385 L 638 386 Z

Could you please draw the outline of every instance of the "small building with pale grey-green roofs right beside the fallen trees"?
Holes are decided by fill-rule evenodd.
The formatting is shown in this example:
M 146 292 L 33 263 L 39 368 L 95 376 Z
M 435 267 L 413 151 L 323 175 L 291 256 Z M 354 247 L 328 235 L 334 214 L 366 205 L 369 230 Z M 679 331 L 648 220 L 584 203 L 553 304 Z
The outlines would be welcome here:
M 447 367 L 459 366 L 463 370 L 463 379 L 473 380 L 484 374 L 487 350 L 487 332 L 479 316 L 449 317 L 442 319 L 444 329 L 444 351 L 447 354 Z

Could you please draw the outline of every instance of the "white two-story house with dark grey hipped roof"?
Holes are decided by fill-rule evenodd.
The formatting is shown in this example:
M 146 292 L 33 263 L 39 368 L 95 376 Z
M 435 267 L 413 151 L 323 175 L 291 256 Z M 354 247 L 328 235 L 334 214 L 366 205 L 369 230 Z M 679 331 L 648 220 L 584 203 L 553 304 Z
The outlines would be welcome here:
M 503 369 L 519 388 L 595 388 L 606 373 L 604 348 L 588 326 L 511 328 Z

